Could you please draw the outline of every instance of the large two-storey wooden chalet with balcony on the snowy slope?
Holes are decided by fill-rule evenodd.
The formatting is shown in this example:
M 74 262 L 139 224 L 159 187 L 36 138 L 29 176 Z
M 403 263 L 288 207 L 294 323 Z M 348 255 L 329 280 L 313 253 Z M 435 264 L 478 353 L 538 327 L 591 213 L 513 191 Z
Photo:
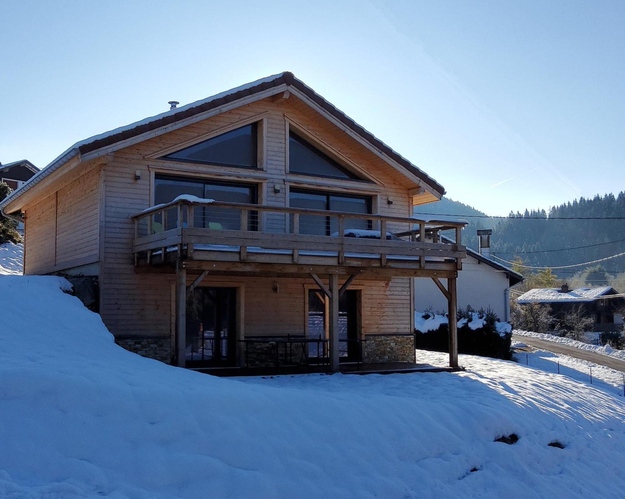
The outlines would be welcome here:
M 409 218 L 443 193 L 284 72 L 76 143 L 0 208 L 24 273 L 97 281 L 131 351 L 338 371 L 414 363 L 416 278 L 447 279 L 455 316 L 466 249 L 427 238 L 465 223 Z

